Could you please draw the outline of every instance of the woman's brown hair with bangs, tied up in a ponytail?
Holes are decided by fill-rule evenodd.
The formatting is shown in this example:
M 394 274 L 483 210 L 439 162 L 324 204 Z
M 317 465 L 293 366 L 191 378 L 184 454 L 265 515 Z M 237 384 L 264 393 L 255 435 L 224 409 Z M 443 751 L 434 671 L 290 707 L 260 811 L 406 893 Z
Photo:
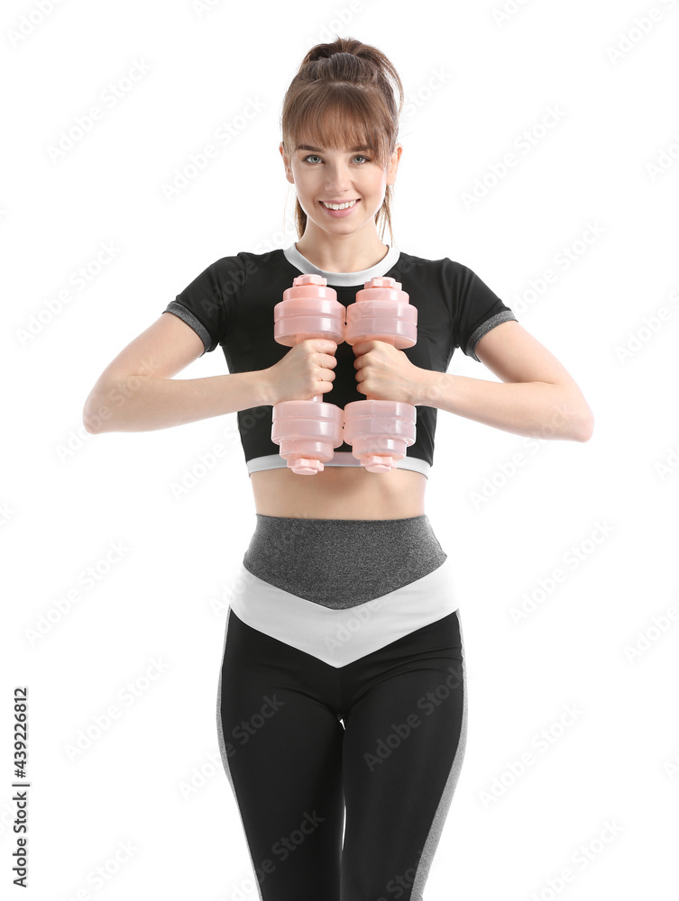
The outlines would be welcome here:
M 393 85 L 392 85 L 393 82 Z M 399 95 L 397 104 L 394 86 Z M 376 47 L 355 38 L 337 38 L 317 44 L 302 59 L 297 75 L 283 99 L 280 127 L 283 149 L 289 159 L 304 135 L 321 147 L 370 147 L 386 168 L 396 148 L 403 85 L 390 60 Z M 391 241 L 391 186 L 375 214 L 389 224 Z M 304 234 L 307 214 L 295 203 L 298 237 Z

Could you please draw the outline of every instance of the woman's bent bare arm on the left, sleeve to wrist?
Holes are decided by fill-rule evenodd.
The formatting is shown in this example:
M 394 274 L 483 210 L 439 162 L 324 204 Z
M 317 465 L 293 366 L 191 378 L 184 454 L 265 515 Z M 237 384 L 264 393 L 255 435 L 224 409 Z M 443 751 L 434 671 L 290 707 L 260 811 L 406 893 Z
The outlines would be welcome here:
M 97 379 L 83 408 L 87 432 L 153 432 L 273 403 L 267 369 L 172 378 L 203 350 L 178 316 L 161 314 Z

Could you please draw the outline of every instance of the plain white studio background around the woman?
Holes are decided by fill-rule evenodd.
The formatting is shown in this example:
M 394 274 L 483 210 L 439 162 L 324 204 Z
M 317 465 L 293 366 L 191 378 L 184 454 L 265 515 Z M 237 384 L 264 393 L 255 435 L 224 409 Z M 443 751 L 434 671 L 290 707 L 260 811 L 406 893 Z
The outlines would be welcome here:
M 26 685 L 22 897 L 257 897 L 216 737 L 228 596 L 255 522 L 235 414 L 101 435 L 81 415 L 107 363 L 209 263 L 297 239 L 280 107 L 306 51 L 332 31 L 383 50 L 408 95 L 396 246 L 473 268 L 562 361 L 596 420 L 587 443 L 529 445 L 438 414 L 427 514 L 458 581 L 470 732 L 427 901 L 676 899 L 679 9 L 528 0 L 500 20 L 501 8 L 220 0 L 201 13 L 189 0 L 63 0 L 41 15 L 3 5 L 4 896 L 21 894 L 12 696 Z M 140 63 L 148 72 L 51 159 L 60 132 Z M 239 119 L 252 98 L 261 112 Z M 550 107 L 560 121 L 542 134 Z M 163 186 L 223 123 L 234 138 L 167 199 Z M 526 130 L 537 140 L 525 154 Z M 510 151 L 517 165 L 491 186 Z M 491 187 L 465 204 L 475 179 Z M 589 224 L 599 237 L 578 243 Z M 108 242 L 115 258 L 95 272 Z M 569 247 L 572 265 L 531 295 L 531 279 Z M 71 282 L 80 267 L 91 272 L 82 290 Z M 226 371 L 218 348 L 179 378 Z M 449 371 L 494 378 L 460 351 Z M 177 496 L 225 441 L 225 458 Z M 515 454 L 523 465 L 503 477 Z M 124 554 L 105 573 L 116 542 Z M 86 589 L 78 577 L 91 566 L 100 574 Z M 557 568 L 564 580 L 540 595 Z M 512 610 L 532 594 L 539 603 L 517 624 Z M 167 669 L 144 681 L 153 660 Z M 131 705 L 118 694 L 129 682 Z M 69 756 L 109 705 L 119 717 Z M 579 714 L 564 728 L 567 707 Z M 543 729 L 546 752 L 534 743 Z M 115 863 L 120 842 L 135 850 Z M 91 874 L 107 861 L 112 875 L 96 888 Z

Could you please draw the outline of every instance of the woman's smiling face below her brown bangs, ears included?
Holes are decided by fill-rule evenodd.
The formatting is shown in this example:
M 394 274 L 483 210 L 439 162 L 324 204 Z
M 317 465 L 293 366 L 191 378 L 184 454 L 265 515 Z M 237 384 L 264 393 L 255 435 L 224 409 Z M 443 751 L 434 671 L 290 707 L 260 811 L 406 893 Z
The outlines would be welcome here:
M 297 188 L 299 205 L 309 220 L 332 234 L 349 234 L 365 223 L 374 223 L 387 185 L 396 181 L 401 150 L 400 146 L 394 150 L 385 169 L 367 148 L 335 150 L 302 139 L 288 159 L 280 143 L 286 177 Z M 339 215 L 329 213 L 324 201 L 355 203 Z

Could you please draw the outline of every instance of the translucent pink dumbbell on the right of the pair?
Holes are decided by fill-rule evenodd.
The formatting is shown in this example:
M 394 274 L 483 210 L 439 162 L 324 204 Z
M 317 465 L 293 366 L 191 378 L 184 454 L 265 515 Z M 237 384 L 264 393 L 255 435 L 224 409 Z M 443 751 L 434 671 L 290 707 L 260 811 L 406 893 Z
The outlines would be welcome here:
M 394 278 L 371 278 L 346 307 L 348 344 L 386 341 L 402 350 L 417 342 L 417 307 Z M 344 407 L 344 441 L 370 472 L 389 472 L 415 442 L 417 410 L 394 400 L 356 400 Z

